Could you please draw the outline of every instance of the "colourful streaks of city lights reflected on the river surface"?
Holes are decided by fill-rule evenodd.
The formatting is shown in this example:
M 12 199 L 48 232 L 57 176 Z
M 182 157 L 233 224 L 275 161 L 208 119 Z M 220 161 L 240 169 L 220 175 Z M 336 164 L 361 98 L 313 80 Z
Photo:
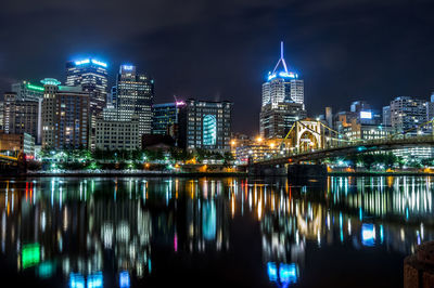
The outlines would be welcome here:
M 158 270 L 155 250 L 181 253 L 186 262 L 230 254 L 240 237 L 232 224 L 243 218 L 260 232 L 263 274 L 253 277 L 279 287 L 303 284 L 309 250 L 404 256 L 434 239 L 431 178 L 342 176 L 306 185 L 52 178 L 3 181 L 0 189 L 4 261 L 40 279 L 62 275 L 64 287 L 133 286 Z

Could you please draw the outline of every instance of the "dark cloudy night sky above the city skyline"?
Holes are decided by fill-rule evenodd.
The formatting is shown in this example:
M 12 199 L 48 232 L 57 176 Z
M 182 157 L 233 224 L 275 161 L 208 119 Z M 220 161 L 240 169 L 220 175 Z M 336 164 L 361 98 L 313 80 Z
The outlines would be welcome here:
M 433 1 L 2 0 L 0 91 L 20 79 L 65 81 L 65 62 L 93 56 L 155 79 L 173 95 L 234 102 L 233 130 L 256 134 L 261 83 L 279 58 L 305 80 L 308 114 L 375 108 L 434 91 Z

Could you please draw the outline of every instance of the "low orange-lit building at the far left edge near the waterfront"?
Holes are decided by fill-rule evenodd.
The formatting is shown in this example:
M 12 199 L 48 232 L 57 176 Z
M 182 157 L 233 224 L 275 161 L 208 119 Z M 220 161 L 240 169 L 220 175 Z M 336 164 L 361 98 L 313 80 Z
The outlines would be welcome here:
M 11 156 L 18 156 L 20 153 L 35 156 L 35 138 L 28 133 L 0 133 L 0 152 Z

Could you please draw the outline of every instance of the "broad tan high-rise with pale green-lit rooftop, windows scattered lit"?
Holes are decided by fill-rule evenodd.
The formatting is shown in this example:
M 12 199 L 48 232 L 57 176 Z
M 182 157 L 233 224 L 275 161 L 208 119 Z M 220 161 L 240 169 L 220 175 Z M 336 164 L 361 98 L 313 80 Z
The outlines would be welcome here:
M 42 83 L 42 147 L 89 148 L 89 93 L 52 78 Z

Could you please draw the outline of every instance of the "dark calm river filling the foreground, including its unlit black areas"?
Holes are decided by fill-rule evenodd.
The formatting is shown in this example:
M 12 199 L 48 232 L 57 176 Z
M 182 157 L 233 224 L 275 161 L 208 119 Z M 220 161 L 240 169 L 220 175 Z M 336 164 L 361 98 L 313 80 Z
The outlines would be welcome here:
M 1 287 L 400 287 L 433 181 L 2 180 Z

